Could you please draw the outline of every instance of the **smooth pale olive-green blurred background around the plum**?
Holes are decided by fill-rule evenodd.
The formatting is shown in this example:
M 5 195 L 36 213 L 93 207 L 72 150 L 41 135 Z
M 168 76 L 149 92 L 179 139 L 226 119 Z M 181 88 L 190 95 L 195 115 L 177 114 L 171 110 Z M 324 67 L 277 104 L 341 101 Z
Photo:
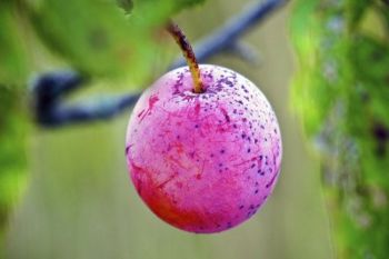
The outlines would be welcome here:
M 194 41 L 246 2 L 211 0 L 180 12 L 176 21 Z M 6 258 L 333 258 L 319 163 L 290 109 L 290 81 L 296 70 L 288 34 L 291 6 L 245 37 L 260 53 L 257 66 L 229 54 L 209 60 L 258 83 L 278 114 L 285 148 L 282 171 L 272 197 L 256 217 L 222 233 L 192 235 L 152 215 L 128 177 L 128 110 L 110 121 L 33 129 L 28 149 L 30 185 L 10 219 Z M 171 47 L 171 57 L 156 57 L 163 60 L 153 61 L 154 78 L 178 54 L 176 48 Z M 109 83 L 101 83 L 83 94 L 110 89 Z

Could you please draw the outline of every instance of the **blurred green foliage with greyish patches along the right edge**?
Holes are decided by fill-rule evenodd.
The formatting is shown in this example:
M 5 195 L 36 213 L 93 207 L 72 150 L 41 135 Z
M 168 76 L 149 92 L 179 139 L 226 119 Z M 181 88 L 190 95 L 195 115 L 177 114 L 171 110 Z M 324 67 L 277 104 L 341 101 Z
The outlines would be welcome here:
M 389 252 L 389 6 L 299 0 L 293 107 L 318 147 L 339 258 Z

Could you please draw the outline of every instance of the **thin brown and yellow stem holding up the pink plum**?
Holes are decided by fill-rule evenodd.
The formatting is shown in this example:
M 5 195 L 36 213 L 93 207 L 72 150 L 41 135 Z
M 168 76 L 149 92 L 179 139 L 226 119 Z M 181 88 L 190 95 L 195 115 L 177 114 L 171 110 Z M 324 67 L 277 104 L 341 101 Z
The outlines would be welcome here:
M 187 40 L 187 37 L 184 36 L 182 30 L 172 21 L 169 21 L 166 28 L 168 32 L 173 37 L 178 46 L 181 48 L 182 54 L 187 60 L 190 73 L 192 74 L 193 79 L 193 91 L 196 93 L 203 92 L 199 64 L 197 62 L 194 51 L 190 46 L 189 41 Z

